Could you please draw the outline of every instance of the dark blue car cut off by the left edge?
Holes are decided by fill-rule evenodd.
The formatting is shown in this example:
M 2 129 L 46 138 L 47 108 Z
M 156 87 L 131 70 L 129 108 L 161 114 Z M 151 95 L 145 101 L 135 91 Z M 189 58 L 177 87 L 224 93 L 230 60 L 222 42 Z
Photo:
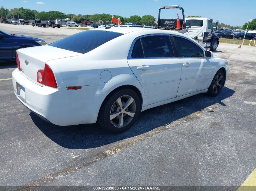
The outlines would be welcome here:
M 0 61 L 15 60 L 17 49 L 45 44 L 44 40 L 38 38 L 8 34 L 0 30 Z

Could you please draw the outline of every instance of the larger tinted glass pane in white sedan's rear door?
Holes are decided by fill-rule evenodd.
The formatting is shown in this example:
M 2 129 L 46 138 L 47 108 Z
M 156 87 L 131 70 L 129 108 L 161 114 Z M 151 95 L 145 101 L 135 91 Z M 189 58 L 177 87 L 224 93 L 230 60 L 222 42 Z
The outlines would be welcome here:
M 145 58 L 174 57 L 169 36 L 148 36 L 141 38 Z

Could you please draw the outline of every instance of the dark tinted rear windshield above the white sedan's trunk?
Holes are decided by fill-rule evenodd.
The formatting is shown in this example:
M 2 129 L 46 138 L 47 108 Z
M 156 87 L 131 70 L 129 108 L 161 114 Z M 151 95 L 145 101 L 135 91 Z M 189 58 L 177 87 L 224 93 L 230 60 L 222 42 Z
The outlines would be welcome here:
M 87 30 L 58 40 L 49 46 L 85 54 L 121 35 L 123 34 L 111 31 Z

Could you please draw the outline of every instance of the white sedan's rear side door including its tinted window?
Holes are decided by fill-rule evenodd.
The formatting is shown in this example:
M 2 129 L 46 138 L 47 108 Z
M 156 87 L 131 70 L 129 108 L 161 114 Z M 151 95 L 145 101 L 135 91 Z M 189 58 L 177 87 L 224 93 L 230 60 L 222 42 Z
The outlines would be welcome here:
M 131 46 L 127 61 L 149 104 L 177 96 L 181 63 L 174 55 L 170 35 L 138 37 Z

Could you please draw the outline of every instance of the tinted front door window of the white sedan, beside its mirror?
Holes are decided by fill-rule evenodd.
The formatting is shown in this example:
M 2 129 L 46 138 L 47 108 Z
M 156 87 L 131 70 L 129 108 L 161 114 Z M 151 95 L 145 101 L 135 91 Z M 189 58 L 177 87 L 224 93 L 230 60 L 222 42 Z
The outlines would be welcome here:
M 196 57 L 203 58 L 204 52 L 203 50 L 197 46 L 195 43 L 181 37 L 175 37 L 174 40 L 177 44 L 177 49 L 179 53 L 179 57 Z

